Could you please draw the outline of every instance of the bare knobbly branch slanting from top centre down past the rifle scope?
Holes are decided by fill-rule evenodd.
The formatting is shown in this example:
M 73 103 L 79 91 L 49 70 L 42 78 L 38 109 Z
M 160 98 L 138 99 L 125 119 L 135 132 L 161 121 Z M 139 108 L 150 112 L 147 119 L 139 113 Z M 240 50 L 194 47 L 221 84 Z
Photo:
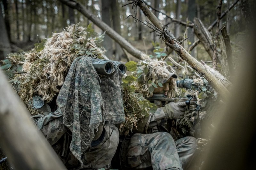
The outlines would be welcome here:
M 137 5 L 152 22 L 152 24 L 156 26 L 156 28 L 158 28 L 159 30 L 163 30 L 163 36 L 166 46 L 172 48 L 183 60 L 187 61 L 192 68 L 194 68 L 199 74 L 201 74 L 213 86 L 213 88 L 217 92 L 219 92 L 220 96 L 226 98 L 229 94 L 229 91 L 226 89 L 226 87 L 208 69 L 206 69 L 195 58 L 193 58 L 184 49 L 183 46 L 181 46 L 177 42 L 176 38 L 172 35 L 172 33 L 164 28 L 164 25 L 162 25 L 162 23 L 159 22 L 156 16 L 148 9 L 148 6 L 144 5 L 144 3 L 141 1 L 137 1 Z

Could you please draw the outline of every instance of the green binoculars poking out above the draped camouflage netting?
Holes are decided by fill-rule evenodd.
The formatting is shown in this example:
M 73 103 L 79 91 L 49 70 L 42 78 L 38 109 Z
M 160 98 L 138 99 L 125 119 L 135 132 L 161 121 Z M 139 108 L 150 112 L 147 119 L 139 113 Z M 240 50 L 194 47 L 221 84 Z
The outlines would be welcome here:
M 126 66 L 117 61 L 111 62 L 108 60 L 98 60 L 93 62 L 92 65 L 96 69 L 98 74 L 102 75 L 112 74 L 115 66 L 117 66 L 123 74 L 125 74 L 126 72 Z

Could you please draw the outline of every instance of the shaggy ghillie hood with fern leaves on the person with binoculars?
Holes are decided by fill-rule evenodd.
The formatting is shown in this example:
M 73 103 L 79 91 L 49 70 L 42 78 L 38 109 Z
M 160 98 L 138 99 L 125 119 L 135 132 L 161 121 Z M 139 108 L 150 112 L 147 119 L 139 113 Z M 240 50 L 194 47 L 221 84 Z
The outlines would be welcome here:
M 59 93 L 73 60 L 88 55 L 85 49 L 90 49 L 97 58 L 103 58 L 105 50 L 97 44 L 102 42 L 104 34 L 90 38 L 95 35 L 91 25 L 87 28 L 70 25 L 36 44 L 28 53 L 12 53 L 3 61 L 2 69 L 18 87 L 20 98 L 30 113 L 35 114 L 30 107 L 34 95 L 48 103 Z

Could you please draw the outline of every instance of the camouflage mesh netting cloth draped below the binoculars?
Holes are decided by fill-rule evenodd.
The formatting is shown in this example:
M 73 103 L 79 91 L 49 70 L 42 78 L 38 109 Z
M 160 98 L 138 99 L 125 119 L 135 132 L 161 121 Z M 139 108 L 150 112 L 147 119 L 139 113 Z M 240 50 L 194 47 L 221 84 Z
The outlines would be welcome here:
M 100 123 L 108 126 L 124 122 L 123 74 L 115 67 L 112 74 L 98 76 L 92 65 L 97 60 L 100 59 L 76 58 L 57 97 L 64 124 L 72 131 L 70 151 L 82 166 L 82 155 L 90 147 Z

